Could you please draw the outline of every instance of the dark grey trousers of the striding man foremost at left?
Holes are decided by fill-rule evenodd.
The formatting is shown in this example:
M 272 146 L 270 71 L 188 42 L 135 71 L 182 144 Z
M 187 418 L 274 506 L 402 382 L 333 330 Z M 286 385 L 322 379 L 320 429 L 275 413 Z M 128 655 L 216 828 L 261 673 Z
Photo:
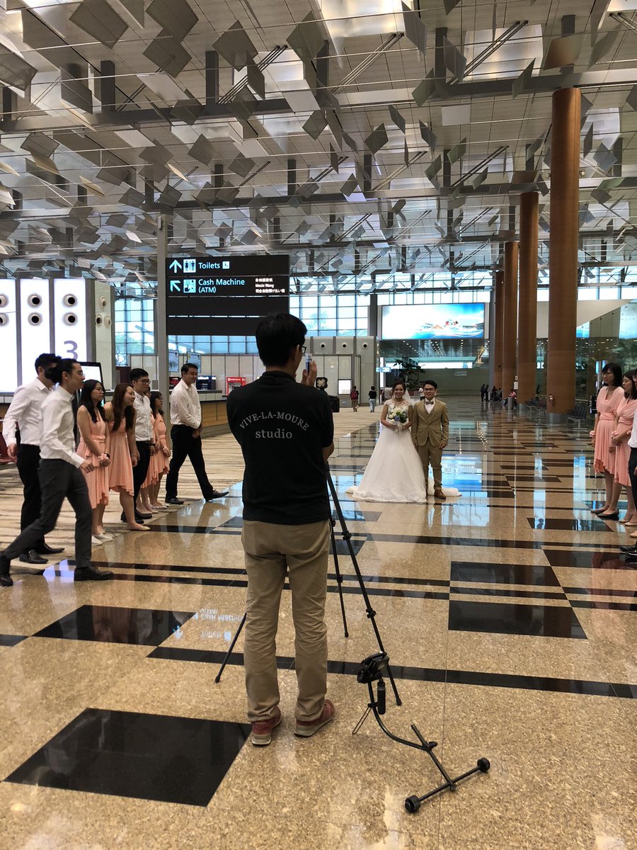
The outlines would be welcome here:
M 62 502 L 68 499 L 76 512 L 76 569 L 90 567 L 93 511 L 86 479 L 77 467 L 66 461 L 41 461 L 39 472 L 42 492 L 40 516 L 8 545 L 3 552 L 4 557 L 11 560 L 36 547 L 37 541 L 54 530 Z

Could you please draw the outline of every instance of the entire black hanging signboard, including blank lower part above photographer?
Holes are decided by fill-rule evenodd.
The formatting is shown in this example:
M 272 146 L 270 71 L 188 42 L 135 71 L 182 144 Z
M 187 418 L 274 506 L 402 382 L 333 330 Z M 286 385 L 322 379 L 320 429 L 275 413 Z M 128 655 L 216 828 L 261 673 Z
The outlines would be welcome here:
M 251 336 L 262 316 L 289 309 L 286 254 L 166 260 L 166 322 L 171 335 Z

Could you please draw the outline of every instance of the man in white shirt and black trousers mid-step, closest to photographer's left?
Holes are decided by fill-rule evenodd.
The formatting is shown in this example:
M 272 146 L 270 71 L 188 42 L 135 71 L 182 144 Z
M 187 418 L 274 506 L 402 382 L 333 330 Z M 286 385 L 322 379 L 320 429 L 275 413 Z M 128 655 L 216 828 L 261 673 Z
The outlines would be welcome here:
M 206 501 L 228 496 L 228 490 L 215 490 L 206 474 L 206 462 L 201 450 L 201 405 L 196 388 L 198 373 L 194 363 L 184 363 L 182 379 L 171 393 L 172 460 L 166 475 L 167 505 L 183 505 L 183 500 L 177 497 L 177 485 L 179 470 L 187 457 L 190 458 Z

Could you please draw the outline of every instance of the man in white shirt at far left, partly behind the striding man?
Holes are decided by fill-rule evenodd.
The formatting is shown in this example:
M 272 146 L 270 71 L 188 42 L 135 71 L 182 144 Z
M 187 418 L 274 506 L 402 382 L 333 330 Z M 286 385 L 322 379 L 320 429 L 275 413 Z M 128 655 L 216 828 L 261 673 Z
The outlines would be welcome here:
M 8 456 L 17 462 L 24 488 L 20 531 L 24 531 L 40 516 L 42 494 L 37 473 L 40 465 L 40 420 L 42 403 L 53 388 L 51 370 L 58 362 L 57 354 L 40 354 L 36 360 L 37 378 L 16 389 L 4 416 L 3 437 L 7 443 Z M 15 438 L 17 428 L 20 428 L 20 448 Z M 47 564 L 47 559 L 42 558 L 42 555 L 59 555 L 64 551 L 64 547 L 48 546 L 42 537 L 30 550 L 20 553 L 20 561 L 24 564 Z

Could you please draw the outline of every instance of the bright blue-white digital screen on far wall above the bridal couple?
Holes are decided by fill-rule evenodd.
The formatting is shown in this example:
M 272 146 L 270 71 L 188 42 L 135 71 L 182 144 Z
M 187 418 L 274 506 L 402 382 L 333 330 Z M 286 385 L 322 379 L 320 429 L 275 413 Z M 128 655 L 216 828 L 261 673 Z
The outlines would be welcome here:
M 484 304 L 400 304 L 383 307 L 381 339 L 484 337 Z

